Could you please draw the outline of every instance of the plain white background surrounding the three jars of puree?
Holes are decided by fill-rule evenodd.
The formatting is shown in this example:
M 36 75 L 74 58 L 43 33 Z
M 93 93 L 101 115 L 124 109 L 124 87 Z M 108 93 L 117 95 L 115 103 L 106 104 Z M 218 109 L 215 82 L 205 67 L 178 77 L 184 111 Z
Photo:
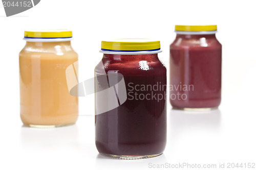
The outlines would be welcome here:
M 0 169 L 148 169 L 148 163 L 256 163 L 255 1 L 61 1 L 42 0 L 6 17 L 0 7 Z M 217 24 L 223 45 L 222 103 L 219 110 L 167 110 L 163 155 L 144 160 L 100 156 L 94 143 L 94 95 L 80 98 L 74 126 L 23 127 L 19 118 L 18 53 L 25 29 L 71 29 L 79 54 L 80 80 L 94 76 L 101 40 L 155 38 L 169 67 L 175 25 Z M 168 78 L 168 77 L 167 77 Z M 254 166 L 256 168 L 256 165 Z M 245 169 L 245 168 L 235 168 Z

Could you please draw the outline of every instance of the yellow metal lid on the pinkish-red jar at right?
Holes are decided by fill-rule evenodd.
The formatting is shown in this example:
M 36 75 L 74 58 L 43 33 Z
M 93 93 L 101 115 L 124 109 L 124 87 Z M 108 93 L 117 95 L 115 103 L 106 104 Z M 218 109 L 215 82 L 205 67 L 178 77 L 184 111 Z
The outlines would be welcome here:
M 217 25 L 209 26 L 175 26 L 175 31 L 217 31 Z

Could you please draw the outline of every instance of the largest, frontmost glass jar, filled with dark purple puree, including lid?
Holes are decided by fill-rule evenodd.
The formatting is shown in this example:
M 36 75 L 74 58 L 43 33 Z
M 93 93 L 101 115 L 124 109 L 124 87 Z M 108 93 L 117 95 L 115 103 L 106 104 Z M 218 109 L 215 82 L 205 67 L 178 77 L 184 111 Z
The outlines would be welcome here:
M 102 41 L 95 67 L 96 147 L 121 159 L 162 154 L 166 143 L 166 68 L 160 41 Z

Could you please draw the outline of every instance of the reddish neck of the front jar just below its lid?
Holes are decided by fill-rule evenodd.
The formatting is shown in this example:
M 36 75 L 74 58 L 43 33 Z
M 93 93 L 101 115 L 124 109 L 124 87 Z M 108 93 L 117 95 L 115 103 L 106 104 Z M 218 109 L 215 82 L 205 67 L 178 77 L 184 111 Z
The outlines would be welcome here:
M 139 54 L 139 55 L 120 55 L 120 54 L 103 54 L 103 59 L 110 59 L 116 61 L 155 61 L 158 59 L 158 54 Z

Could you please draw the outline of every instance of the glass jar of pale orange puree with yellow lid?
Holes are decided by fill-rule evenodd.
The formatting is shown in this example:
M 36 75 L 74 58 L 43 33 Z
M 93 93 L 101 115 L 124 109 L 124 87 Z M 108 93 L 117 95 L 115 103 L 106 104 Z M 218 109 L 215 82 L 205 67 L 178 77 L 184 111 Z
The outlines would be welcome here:
M 69 93 L 66 69 L 78 60 L 67 30 L 25 31 L 19 53 L 20 117 L 30 127 L 59 127 L 78 118 L 78 97 Z M 77 72 L 76 72 L 77 73 Z

